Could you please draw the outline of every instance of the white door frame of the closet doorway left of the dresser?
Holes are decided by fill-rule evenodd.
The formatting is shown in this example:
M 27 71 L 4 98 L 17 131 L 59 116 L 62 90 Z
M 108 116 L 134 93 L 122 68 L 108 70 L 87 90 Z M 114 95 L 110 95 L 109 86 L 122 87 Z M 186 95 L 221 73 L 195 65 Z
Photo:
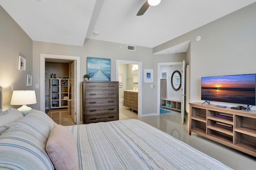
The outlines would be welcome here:
M 40 53 L 40 111 L 45 112 L 45 59 L 76 60 L 76 124 L 80 124 L 80 57 Z

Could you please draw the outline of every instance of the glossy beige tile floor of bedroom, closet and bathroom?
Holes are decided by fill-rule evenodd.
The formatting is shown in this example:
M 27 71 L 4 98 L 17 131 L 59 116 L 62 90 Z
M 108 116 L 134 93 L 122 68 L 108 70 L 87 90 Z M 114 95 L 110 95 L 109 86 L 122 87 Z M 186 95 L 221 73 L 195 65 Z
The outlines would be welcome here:
M 71 115 L 67 111 L 53 110 L 48 113 L 56 123 L 62 125 L 73 125 Z M 161 131 L 172 135 L 176 139 L 208 154 L 209 156 L 219 160 L 234 170 L 255 170 L 256 158 L 248 154 L 239 152 L 238 150 L 226 147 L 216 143 L 195 133 L 188 135 L 189 125 L 187 121 L 181 124 L 180 113 L 170 112 L 161 113 L 160 116 L 138 117 L 137 113 L 132 112 L 126 107 L 120 107 L 119 119 L 139 119 L 144 121 Z

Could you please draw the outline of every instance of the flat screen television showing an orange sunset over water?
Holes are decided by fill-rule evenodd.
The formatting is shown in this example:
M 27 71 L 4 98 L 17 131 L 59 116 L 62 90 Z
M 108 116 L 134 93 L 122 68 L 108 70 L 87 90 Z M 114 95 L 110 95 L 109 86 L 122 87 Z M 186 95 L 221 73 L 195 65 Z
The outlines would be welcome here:
M 256 74 L 242 74 L 202 77 L 201 100 L 255 106 L 255 76 Z

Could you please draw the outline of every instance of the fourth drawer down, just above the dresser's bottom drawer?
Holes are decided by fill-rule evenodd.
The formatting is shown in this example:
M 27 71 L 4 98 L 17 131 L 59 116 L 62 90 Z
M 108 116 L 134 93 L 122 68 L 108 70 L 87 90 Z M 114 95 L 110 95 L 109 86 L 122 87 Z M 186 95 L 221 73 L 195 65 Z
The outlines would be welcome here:
M 86 115 L 117 113 L 117 106 L 86 107 Z

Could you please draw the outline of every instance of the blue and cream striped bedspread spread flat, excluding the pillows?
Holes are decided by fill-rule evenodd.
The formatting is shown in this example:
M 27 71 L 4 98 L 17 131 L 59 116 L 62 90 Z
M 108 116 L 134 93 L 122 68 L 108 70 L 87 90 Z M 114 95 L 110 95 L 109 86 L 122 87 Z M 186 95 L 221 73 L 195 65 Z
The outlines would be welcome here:
M 136 119 L 67 128 L 78 139 L 80 170 L 225 170 L 218 160 Z

